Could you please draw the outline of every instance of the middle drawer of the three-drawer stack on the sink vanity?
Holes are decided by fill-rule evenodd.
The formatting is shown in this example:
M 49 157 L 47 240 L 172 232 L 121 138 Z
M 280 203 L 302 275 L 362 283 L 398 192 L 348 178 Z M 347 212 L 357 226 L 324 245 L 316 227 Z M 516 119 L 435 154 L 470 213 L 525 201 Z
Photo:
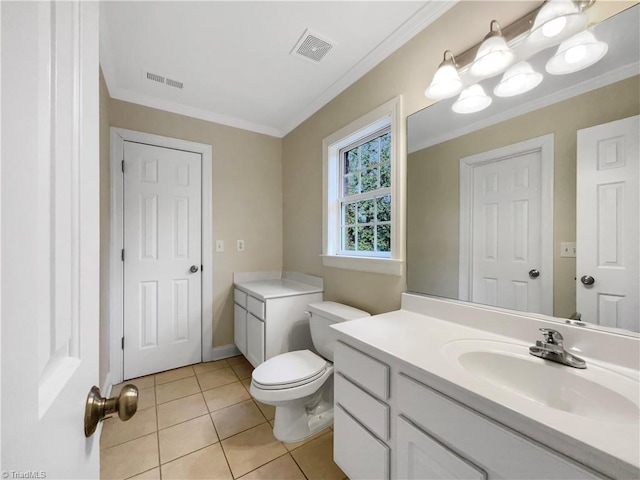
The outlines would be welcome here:
M 388 440 L 389 407 L 341 374 L 337 373 L 334 378 L 336 404 L 343 407 L 382 440 Z

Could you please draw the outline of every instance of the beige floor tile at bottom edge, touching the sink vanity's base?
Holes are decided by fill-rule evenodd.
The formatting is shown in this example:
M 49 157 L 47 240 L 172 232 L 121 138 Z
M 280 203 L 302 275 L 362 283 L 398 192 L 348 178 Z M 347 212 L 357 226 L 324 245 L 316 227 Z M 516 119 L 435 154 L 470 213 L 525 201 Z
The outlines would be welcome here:
M 291 455 L 309 480 L 342 480 L 346 477 L 333 461 L 333 432 L 296 448 Z

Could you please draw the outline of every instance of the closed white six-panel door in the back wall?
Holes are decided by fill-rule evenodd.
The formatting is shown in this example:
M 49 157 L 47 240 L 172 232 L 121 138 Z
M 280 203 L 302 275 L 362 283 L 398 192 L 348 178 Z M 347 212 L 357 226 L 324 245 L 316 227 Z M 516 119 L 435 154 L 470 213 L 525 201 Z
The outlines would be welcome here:
M 124 159 L 129 379 L 201 361 L 202 162 L 198 153 L 129 141 Z

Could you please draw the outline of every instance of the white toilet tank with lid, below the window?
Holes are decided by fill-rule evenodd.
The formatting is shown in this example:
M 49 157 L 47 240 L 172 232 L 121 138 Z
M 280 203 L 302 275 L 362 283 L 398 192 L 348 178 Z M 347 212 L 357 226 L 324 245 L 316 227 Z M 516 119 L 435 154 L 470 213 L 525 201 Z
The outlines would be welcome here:
M 333 362 L 333 346 L 338 335 L 335 330 L 329 328 L 329 325 L 370 316 L 363 310 L 336 302 L 310 303 L 309 313 L 313 346 L 330 362 Z

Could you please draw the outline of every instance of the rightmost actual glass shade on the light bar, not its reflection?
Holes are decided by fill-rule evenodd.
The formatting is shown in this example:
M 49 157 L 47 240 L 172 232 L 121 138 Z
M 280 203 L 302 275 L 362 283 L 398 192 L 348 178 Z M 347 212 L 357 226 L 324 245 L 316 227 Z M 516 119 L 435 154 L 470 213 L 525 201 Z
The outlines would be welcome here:
M 558 44 L 581 31 L 587 16 L 572 0 L 549 0 L 538 12 L 527 42 L 540 46 Z

